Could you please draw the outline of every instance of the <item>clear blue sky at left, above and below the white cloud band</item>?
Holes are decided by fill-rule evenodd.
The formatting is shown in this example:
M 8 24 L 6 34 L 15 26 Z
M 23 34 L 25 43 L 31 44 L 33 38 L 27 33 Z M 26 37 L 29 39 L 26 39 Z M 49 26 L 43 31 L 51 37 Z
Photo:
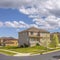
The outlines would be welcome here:
M 6 21 L 24 21 L 28 24 L 31 24 L 31 18 L 28 18 L 27 15 L 20 13 L 17 9 L 4 9 L 0 8 L 0 21 L 6 22 Z M 29 21 L 28 21 L 29 20 Z M 20 31 L 23 30 L 23 28 L 19 29 Z M 0 27 L 0 37 L 2 36 L 11 36 L 11 37 L 18 37 L 18 31 L 16 28 L 12 27 Z

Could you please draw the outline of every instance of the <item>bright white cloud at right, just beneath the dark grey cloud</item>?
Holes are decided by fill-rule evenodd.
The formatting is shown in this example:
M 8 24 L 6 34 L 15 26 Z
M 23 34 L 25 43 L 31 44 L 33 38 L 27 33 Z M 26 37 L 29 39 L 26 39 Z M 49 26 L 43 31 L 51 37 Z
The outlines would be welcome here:
M 39 26 L 39 28 L 48 30 L 60 28 L 60 18 L 57 18 L 55 16 L 48 16 L 45 19 L 34 19 L 33 22 L 35 22 Z

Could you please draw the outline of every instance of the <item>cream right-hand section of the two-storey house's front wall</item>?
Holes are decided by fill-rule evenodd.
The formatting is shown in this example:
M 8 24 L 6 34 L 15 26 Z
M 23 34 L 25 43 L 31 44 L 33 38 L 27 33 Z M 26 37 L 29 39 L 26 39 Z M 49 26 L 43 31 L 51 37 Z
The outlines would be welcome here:
M 40 44 L 45 46 L 50 43 L 50 33 L 40 33 Z

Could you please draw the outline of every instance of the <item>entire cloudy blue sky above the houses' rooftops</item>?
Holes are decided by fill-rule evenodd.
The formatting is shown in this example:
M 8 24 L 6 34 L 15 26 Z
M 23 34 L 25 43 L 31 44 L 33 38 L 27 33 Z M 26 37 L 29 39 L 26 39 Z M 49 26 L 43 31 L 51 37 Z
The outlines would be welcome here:
M 60 0 L 0 1 L 0 37 L 18 37 L 29 27 L 60 32 Z

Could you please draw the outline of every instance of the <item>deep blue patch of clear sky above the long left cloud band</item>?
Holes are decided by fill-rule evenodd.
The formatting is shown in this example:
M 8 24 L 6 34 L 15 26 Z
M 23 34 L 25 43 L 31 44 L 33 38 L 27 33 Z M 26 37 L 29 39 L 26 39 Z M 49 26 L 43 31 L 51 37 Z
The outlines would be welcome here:
M 5 21 L 19 21 L 19 20 L 22 20 L 27 23 L 31 23 L 31 19 L 28 18 L 27 15 L 19 12 L 17 9 L 4 9 L 4 8 L 0 8 L 0 20 L 2 22 L 5 22 Z M 30 22 L 28 22 L 28 20 Z

